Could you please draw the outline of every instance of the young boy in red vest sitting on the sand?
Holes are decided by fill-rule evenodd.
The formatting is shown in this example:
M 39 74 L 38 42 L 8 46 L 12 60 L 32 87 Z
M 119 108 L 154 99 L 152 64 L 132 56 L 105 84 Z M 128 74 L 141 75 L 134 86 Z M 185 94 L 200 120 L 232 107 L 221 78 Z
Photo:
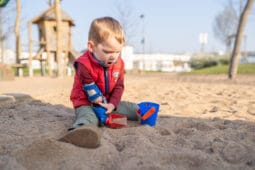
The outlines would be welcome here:
M 137 120 L 135 103 L 120 101 L 124 91 L 124 62 L 120 52 L 125 43 L 124 31 L 111 17 L 95 19 L 90 26 L 87 51 L 79 57 L 70 99 L 76 119 L 70 132 L 61 140 L 82 147 L 100 144 L 101 123 L 92 106 L 125 114 L 128 120 Z M 82 127 L 81 127 L 82 126 Z

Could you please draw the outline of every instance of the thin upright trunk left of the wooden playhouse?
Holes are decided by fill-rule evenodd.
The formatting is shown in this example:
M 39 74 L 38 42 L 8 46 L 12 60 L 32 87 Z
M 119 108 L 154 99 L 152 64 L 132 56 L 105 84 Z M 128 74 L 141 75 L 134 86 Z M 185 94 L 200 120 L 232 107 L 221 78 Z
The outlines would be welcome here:
M 15 22 L 15 37 L 16 37 L 16 63 L 20 63 L 20 55 L 21 55 L 21 40 L 20 40 L 20 33 L 19 33 L 19 26 L 20 26 L 20 0 L 16 0 L 16 22 Z M 16 75 L 19 75 L 19 69 L 16 70 Z

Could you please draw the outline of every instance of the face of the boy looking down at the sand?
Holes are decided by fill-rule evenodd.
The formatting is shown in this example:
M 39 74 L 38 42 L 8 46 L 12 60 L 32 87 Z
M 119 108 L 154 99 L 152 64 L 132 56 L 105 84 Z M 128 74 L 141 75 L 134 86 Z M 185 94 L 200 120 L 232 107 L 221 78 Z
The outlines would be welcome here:
M 104 62 L 105 67 L 111 66 L 119 57 L 123 44 L 120 44 L 114 37 L 109 37 L 103 43 L 95 45 L 93 41 L 88 42 L 88 49 L 96 58 Z

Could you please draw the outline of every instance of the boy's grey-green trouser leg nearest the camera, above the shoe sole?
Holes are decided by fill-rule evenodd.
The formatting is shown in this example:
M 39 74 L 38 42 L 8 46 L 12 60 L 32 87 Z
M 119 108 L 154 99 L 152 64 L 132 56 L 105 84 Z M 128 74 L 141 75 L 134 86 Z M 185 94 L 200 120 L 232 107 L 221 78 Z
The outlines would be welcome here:
M 75 129 L 82 125 L 98 125 L 99 121 L 96 117 L 94 111 L 91 106 L 80 106 L 75 109 L 75 122 L 69 128 L 69 130 Z

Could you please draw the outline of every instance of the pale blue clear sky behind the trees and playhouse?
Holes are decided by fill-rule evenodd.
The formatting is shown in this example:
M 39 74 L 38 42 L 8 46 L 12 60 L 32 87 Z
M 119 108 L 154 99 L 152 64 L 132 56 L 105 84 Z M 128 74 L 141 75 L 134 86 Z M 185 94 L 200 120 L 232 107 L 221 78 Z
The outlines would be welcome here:
M 239 0 L 233 1 L 239 2 Z M 224 44 L 214 36 L 213 23 L 216 15 L 224 9 L 227 2 L 228 0 L 62 0 L 61 7 L 75 22 L 72 29 L 72 45 L 78 51 L 86 48 L 88 29 L 93 19 L 111 16 L 120 20 L 118 11 L 125 10 L 126 13 L 130 11 L 130 23 L 133 23 L 132 32 L 127 39 L 131 40 L 135 52 L 189 53 L 200 50 L 200 33 L 208 35 L 208 43 L 204 51 L 225 50 Z M 26 51 L 27 22 L 49 6 L 47 0 L 21 0 L 21 7 L 22 48 Z M 247 49 L 253 51 L 255 50 L 254 11 L 251 12 L 245 29 Z M 141 18 L 141 15 L 144 17 Z M 141 43 L 143 37 L 144 45 Z M 35 25 L 33 40 L 38 41 Z M 14 44 L 12 42 L 7 42 L 6 46 L 12 46 Z

